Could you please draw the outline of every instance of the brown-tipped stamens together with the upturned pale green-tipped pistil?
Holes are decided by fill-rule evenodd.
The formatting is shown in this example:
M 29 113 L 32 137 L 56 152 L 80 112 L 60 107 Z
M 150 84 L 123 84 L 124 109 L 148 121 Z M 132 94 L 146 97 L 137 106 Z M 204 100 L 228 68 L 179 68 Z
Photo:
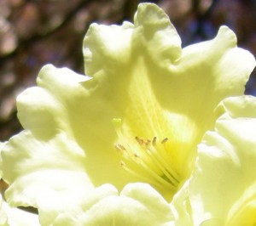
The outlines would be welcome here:
M 182 170 L 176 167 L 178 157 L 175 150 L 173 153 L 172 139 L 157 136 L 127 138 L 122 131 L 122 121 L 114 119 L 113 122 L 119 138 L 114 147 L 121 155 L 121 166 L 154 186 L 166 199 L 171 199 L 184 178 Z

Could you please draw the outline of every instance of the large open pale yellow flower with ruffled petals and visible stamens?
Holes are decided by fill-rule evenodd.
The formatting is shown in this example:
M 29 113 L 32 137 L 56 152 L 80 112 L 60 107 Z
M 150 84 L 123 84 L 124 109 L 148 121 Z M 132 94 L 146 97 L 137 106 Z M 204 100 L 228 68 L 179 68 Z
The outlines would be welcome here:
M 43 225 L 171 225 L 168 202 L 219 102 L 243 95 L 253 55 L 226 26 L 181 48 L 162 9 L 143 3 L 134 24 L 90 25 L 84 65 L 86 76 L 46 65 L 18 97 L 24 131 L 3 149 L 7 201 L 38 208 Z

